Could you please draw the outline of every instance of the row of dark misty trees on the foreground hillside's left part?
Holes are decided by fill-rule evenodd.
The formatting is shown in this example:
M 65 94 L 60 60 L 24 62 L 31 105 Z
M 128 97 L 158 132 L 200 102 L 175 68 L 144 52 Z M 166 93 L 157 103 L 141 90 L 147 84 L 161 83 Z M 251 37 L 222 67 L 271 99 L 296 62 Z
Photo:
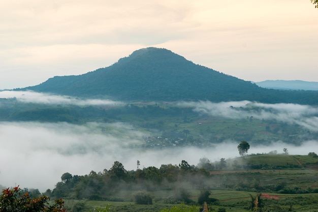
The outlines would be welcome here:
M 175 189 L 180 182 L 202 188 L 203 179 L 208 176 L 206 169 L 189 165 L 184 160 L 179 165 L 150 166 L 131 171 L 115 161 L 109 170 L 104 169 L 103 172 L 91 171 L 84 176 L 64 173 L 55 188 L 52 191 L 48 189 L 44 194 L 53 198 L 123 201 L 114 194 L 120 190 Z

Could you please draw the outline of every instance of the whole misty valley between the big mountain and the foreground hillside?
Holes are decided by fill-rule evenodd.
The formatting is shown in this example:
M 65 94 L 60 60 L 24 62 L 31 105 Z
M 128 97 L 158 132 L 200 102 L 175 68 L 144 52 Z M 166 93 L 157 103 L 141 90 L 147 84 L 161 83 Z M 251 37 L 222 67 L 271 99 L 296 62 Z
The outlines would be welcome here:
M 309 105 L 125 103 L 14 91 L 0 92 L 0 98 L 4 187 L 19 184 L 44 192 L 65 172 L 99 172 L 114 161 L 136 170 L 137 160 L 140 167 L 158 168 L 182 160 L 197 165 L 201 158 L 231 159 L 239 157 L 241 140 L 250 143 L 248 154 L 282 154 L 288 148 L 290 154 L 306 155 L 318 145 L 318 108 Z M 81 116 L 70 112 L 79 108 Z M 51 111 L 68 118 L 56 122 Z

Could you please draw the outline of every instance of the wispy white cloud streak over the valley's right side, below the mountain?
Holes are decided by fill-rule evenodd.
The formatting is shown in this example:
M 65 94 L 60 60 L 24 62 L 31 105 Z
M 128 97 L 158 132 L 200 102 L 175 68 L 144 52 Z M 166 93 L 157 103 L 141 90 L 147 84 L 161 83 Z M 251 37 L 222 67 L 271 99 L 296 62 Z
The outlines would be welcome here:
M 211 116 L 245 119 L 253 116 L 264 120 L 300 125 L 312 132 L 318 132 L 318 107 L 298 104 L 264 104 L 249 101 L 220 102 L 209 101 L 182 102 L 180 106 L 194 107 L 194 111 Z

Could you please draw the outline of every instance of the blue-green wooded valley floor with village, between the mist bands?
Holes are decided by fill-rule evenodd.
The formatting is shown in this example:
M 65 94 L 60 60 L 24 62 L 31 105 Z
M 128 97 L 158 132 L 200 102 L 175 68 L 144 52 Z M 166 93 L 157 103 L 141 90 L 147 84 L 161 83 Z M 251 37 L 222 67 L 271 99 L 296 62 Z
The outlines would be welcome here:
M 131 103 L 117 106 L 76 106 L 23 103 L 0 99 L 0 120 L 24 122 L 67 122 L 72 124 L 126 123 L 148 134 L 139 147 L 211 146 L 227 140 L 246 140 L 270 145 L 276 141 L 301 144 L 317 139 L 318 133 L 275 119 L 249 115 L 230 118 L 196 112 L 193 106 L 177 103 Z M 261 108 L 234 108 L 253 114 Z M 117 135 L 120 136 L 120 135 Z

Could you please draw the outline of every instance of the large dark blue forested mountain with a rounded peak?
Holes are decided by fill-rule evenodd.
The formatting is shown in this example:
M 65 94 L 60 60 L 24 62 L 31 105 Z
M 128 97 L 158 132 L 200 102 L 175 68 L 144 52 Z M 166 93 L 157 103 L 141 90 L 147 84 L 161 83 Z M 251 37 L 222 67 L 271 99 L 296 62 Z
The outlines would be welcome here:
M 124 101 L 259 101 L 317 104 L 318 93 L 261 88 L 196 65 L 167 49 L 144 48 L 112 66 L 77 76 L 55 76 L 23 90 Z

